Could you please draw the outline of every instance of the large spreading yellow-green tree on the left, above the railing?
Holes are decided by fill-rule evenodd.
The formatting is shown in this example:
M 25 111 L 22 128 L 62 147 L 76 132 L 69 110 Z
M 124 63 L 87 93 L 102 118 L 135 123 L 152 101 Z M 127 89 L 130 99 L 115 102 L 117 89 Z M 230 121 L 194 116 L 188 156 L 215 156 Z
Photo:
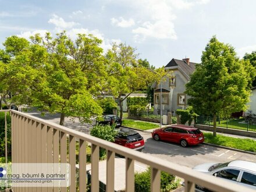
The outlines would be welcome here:
M 17 39 L 9 37 L 6 42 Z M 73 42 L 63 31 L 56 38 L 49 33 L 44 38 L 36 34 L 31 41 L 29 45 L 24 43 L 26 48 L 13 44 L 6 47 L 12 60 L 6 63 L 2 77 L 9 76 L 6 84 L 15 93 L 13 99 L 61 113 L 60 125 L 65 116 L 89 122 L 91 116 L 101 115 L 102 109 L 94 99 L 104 67 L 101 40 L 79 34 Z

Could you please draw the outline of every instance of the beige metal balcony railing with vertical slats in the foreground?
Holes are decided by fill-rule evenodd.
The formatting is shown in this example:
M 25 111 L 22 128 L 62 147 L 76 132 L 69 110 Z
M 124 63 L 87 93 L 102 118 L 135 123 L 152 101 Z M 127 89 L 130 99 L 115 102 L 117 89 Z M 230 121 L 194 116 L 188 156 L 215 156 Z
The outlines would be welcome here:
M 1 112 L 1 111 L 0 111 Z M 70 163 L 70 187 L 14 187 L 13 191 L 86 191 L 86 145 L 91 144 L 91 191 L 99 191 L 99 147 L 107 151 L 106 191 L 114 191 L 115 154 L 126 159 L 126 191 L 134 191 L 134 161 L 151 168 L 151 191 L 160 191 L 161 170 L 184 179 L 184 191 L 194 191 L 195 183 L 214 191 L 253 191 L 230 184 L 204 173 L 163 159 L 109 143 L 55 123 L 14 110 L 2 110 L 11 115 L 12 163 Z M 6 122 L 6 121 L 5 121 Z M 68 140 L 67 140 L 68 138 Z M 76 142 L 79 141 L 79 180 L 76 180 Z M 67 148 L 68 147 L 68 148 Z M 7 151 L 6 151 L 7 155 Z

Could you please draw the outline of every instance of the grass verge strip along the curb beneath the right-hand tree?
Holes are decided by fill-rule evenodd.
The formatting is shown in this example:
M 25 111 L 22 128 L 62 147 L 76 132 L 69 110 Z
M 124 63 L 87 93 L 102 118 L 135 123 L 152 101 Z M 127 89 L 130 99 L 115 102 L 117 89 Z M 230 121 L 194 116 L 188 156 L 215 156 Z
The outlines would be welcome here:
M 216 137 L 214 137 L 212 133 L 204 133 L 204 137 L 205 143 L 232 147 L 244 151 L 256 152 L 256 141 L 251 140 L 250 138 L 227 137 L 222 136 L 218 133 Z

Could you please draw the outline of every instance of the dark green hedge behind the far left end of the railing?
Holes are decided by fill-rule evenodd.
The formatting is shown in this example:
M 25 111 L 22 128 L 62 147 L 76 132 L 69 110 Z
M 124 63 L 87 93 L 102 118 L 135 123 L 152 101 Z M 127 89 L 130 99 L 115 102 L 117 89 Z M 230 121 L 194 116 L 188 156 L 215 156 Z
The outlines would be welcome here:
M 11 146 L 11 125 L 10 125 L 10 114 L 6 113 L 7 120 L 7 151 L 8 156 L 12 153 Z M 0 157 L 5 156 L 5 112 L 0 112 Z

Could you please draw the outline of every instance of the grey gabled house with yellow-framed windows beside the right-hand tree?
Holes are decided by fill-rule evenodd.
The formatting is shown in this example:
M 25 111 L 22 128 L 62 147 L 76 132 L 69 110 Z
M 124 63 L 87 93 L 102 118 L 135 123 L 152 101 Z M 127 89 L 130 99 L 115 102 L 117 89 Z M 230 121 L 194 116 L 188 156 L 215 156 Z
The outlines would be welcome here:
M 196 63 L 186 59 L 172 59 L 166 66 L 165 70 L 168 75 L 163 77 L 162 81 L 162 114 L 167 115 L 172 112 L 175 115 L 177 109 L 187 108 L 187 95 L 185 84 L 190 80 L 190 75 L 195 70 Z M 154 84 L 154 113 L 160 114 L 160 97 L 161 84 Z

